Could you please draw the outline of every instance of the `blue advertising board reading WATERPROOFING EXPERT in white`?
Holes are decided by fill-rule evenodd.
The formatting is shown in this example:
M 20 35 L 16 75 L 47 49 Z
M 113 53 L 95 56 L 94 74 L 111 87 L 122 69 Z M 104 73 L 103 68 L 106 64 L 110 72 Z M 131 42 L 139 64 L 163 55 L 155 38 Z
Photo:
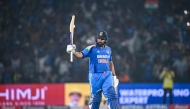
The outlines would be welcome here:
M 162 104 L 162 84 L 119 84 L 119 104 Z M 167 94 L 167 96 L 169 96 Z M 169 103 L 169 98 L 167 103 Z M 174 84 L 174 104 L 190 104 L 190 84 Z

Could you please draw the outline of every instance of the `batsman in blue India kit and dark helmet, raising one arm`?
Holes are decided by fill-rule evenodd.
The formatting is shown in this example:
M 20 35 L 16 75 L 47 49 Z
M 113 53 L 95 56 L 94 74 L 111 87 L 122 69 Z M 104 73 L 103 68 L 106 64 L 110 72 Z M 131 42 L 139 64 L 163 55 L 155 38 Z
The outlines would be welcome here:
M 89 58 L 90 109 L 99 109 L 102 92 L 109 109 L 119 109 L 116 93 L 119 81 L 115 74 L 111 48 L 106 45 L 107 32 L 99 31 L 95 40 L 96 44 L 86 47 L 81 52 L 75 51 L 74 44 L 67 45 L 67 52 L 72 52 L 76 58 Z

